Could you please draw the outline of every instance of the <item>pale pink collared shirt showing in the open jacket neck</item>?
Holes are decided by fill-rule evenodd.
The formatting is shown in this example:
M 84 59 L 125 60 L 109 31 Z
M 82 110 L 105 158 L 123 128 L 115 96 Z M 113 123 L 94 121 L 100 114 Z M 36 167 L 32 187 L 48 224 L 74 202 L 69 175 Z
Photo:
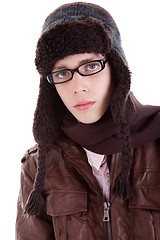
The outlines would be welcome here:
M 103 197 L 105 200 L 108 200 L 110 192 L 110 176 L 107 157 L 105 155 L 91 152 L 85 148 L 84 150 L 86 151 L 88 162 L 92 167 L 93 175 L 97 179 L 99 187 L 103 193 Z

